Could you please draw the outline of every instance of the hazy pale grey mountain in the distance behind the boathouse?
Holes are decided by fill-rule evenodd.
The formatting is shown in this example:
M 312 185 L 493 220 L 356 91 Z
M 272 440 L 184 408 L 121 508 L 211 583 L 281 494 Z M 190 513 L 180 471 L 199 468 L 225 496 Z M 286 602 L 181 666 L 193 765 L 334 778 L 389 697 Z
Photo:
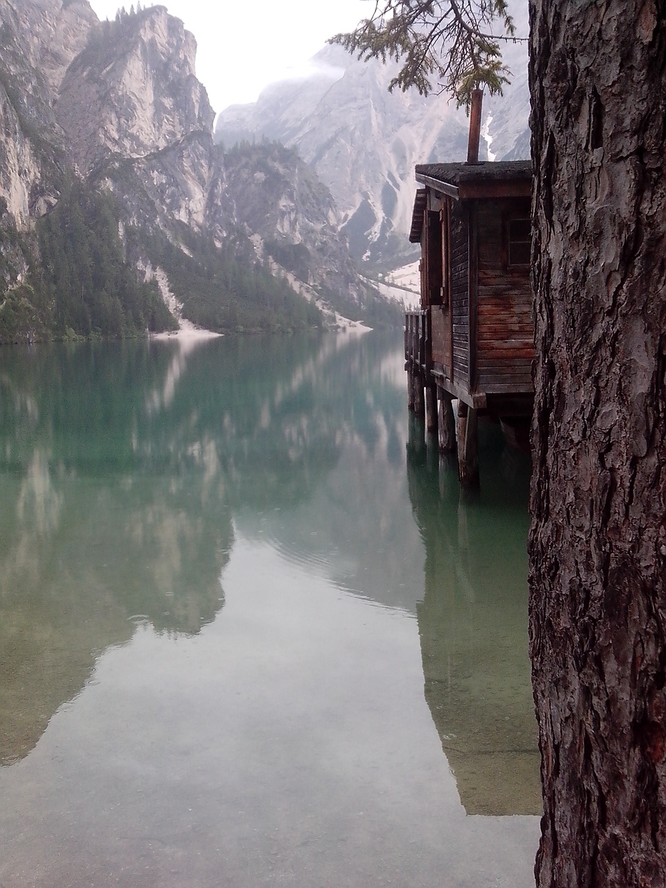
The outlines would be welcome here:
M 527 9 L 515 11 L 527 34 Z M 529 157 L 527 44 L 503 48 L 512 83 L 485 101 L 481 159 Z M 408 231 L 416 163 L 464 160 L 469 122 L 446 94 L 388 92 L 395 62 L 354 59 L 326 46 L 311 59 L 311 74 L 273 83 L 256 103 L 226 108 L 218 142 L 277 139 L 295 147 L 331 191 L 354 258 L 396 267 L 413 258 Z

